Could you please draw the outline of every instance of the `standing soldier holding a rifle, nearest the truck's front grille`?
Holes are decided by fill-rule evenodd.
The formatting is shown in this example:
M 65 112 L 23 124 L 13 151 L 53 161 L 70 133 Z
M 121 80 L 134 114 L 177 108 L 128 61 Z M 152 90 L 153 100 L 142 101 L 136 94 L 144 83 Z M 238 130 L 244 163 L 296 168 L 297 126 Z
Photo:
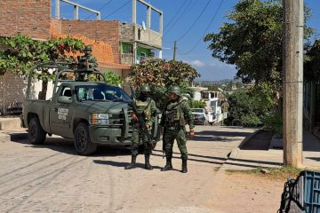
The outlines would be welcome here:
M 155 122 L 154 113 L 156 112 L 156 103 L 153 99 L 149 98 L 150 86 L 142 85 L 140 86 L 140 97 L 133 100 L 133 104 L 137 107 L 138 112 L 144 118 L 146 122 L 148 133 L 151 135 L 151 129 L 153 123 Z M 144 146 L 144 155 L 145 155 L 145 169 L 152 170 L 150 165 L 150 154 L 152 151 L 152 145 L 148 143 L 148 138 L 146 134 L 141 130 L 140 123 L 138 122 L 137 114 L 132 114 L 133 121 L 133 132 L 132 132 L 132 162 L 126 166 L 125 170 L 131 170 L 136 167 L 136 159 L 139 154 L 139 145 L 140 142 Z

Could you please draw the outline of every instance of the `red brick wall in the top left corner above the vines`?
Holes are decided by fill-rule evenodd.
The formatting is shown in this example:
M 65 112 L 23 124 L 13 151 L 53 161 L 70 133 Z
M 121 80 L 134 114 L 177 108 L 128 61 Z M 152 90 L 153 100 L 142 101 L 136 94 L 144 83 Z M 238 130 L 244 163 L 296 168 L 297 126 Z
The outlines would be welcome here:
M 49 39 L 50 0 L 0 0 L 0 35 Z

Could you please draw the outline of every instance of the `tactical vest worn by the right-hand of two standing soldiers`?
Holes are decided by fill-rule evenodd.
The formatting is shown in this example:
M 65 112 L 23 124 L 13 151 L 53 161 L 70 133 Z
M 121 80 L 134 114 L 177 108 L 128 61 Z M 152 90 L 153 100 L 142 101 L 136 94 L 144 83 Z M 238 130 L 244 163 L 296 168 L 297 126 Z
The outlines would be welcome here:
M 180 124 L 181 126 L 185 125 L 185 119 L 183 111 L 180 107 L 182 101 L 177 103 L 170 103 L 165 110 L 165 122 L 168 125 Z

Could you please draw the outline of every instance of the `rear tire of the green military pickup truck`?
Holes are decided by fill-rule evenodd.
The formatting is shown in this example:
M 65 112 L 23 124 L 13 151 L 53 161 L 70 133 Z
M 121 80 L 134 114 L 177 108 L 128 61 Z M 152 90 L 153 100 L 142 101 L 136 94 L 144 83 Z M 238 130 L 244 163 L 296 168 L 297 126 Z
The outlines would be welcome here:
M 39 119 L 33 117 L 28 124 L 28 138 L 32 145 L 44 144 L 46 132 L 42 128 Z

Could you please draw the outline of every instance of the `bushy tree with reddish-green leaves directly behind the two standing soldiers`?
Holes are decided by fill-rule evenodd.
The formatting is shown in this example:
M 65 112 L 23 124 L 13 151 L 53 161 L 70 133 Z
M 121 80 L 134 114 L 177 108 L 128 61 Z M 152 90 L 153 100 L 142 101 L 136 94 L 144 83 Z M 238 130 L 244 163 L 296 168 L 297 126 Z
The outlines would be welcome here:
M 144 60 L 140 64 L 132 65 L 129 77 L 138 88 L 140 85 L 151 86 L 151 97 L 156 105 L 163 109 L 167 102 L 167 88 L 171 85 L 180 85 L 183 93 L 193 94 L 188 83 L 200 75 L 196 69 L 182 61 L 164 59 Z

